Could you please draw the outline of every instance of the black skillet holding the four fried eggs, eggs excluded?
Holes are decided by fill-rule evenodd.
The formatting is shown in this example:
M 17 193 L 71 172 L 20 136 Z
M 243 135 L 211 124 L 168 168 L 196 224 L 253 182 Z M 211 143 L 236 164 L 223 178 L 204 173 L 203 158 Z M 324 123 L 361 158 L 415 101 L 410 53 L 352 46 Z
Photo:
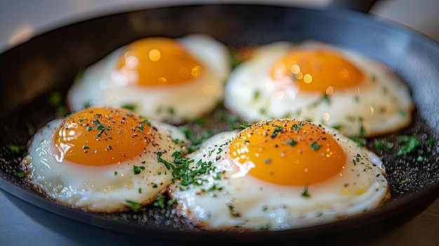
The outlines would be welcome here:
M 383 156 L 392 198 L 383 207 L 332 224 L 289 231 L 204 231 L 167 210 L 90 214 L 51 203 L 29 191 L 15 175 L 35 129 L 57 116 L 50 95 L 65 95 L 74 77 L 115 48 L 144 36 L 207 33 L 230 47 L 315 39 L 344 46 L 389 64 L 412 90 L 414 123 L 369 139 Z M 386 233 L 423 210 L 439 194 L 439 46 L 417 33 L 356 11 L 310 11 L 276 6 L 208 5 L 156 8 L 109 15 L 56 29 L 0 55 L 0 187 L 34 219 L 79 242 L 362 242 Z M 416 135 L 421 148 L 396 158 L 398 136 Z M 395 144 L 380 151 L 374 142 Z M 433 144 L 431 144 L 433 142 Z M 11 144 L 21 146 L 11 150 Z M 417 161 L 419 156 L 424 160 Z M 409 182 L 402 182 L 408 180 Z M 403 183 L 403 184 L 401 184 Z M 115 219 L 115 217 L 117 219 Z M 145 217 L 146 218 L 146 217 Z M 154 219 L 155 218 L 155 219 Z M 175 218 L 175 219 L 174 219 Z M 170 222 L 170 223 L 168 223 Z M 177 227 L 177 228 L 176 228 Z

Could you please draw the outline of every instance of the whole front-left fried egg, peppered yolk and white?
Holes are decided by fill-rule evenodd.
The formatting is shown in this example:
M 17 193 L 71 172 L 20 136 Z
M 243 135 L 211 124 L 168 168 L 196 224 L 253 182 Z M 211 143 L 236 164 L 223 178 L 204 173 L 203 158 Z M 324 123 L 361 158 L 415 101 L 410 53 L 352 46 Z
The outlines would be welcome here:
M 158 156 L 171 158 L 187 139 L 173 125 L 132 111 L 95 107 L 41 128 L 20 164 L 46 197 L 87 212 L 147 205 L 172 182 Z

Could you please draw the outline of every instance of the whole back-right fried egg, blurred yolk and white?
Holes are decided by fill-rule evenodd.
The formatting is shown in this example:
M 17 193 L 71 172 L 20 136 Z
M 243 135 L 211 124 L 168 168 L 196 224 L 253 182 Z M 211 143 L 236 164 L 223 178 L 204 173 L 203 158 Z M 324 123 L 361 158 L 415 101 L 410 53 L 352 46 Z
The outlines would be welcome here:
M 248 122 L 299 118 L 348 137 L 400 130 L 414 109 L 407 86 L 384 64 L 316 41 L 256 48 L 231 73 L 224 104 Z

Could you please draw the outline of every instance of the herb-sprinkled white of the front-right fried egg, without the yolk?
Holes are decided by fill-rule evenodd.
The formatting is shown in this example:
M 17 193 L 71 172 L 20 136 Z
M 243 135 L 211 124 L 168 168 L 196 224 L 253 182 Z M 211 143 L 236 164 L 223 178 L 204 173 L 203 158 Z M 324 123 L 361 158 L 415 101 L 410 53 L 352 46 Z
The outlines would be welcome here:
M 170 196 L 177 201 L 182 216 L 211 230 L 303 228 L 376 209 L 389 198 L 381 160 L 335 130 L 327 129 L 327 132 L 335 135 L 344 149 L 345 168 L 341 176 L 310 184 L 308 197 L 302 196 L 304 186 L 271 184 L 250 175 L 234 176 L 227 146 L 237 132 L 214 135 L 199 151 L 187 156 L 194 163 L 200 159 L 212 162 L 210 173 L 199 178 L 204 180 L 201 185 L 171 184 Z

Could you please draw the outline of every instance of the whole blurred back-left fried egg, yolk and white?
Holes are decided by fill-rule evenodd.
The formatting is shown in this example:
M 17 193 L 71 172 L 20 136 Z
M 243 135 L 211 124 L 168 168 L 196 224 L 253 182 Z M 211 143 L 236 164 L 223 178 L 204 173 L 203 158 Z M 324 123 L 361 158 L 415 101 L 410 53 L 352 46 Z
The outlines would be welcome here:
M 229 50 L 210 36 L 148 37 L 88 67 L 70 88 L 67 104 L 72 111 L 128 107 L 147 118 L 182 123 L 215 109 L 230 69 Z

